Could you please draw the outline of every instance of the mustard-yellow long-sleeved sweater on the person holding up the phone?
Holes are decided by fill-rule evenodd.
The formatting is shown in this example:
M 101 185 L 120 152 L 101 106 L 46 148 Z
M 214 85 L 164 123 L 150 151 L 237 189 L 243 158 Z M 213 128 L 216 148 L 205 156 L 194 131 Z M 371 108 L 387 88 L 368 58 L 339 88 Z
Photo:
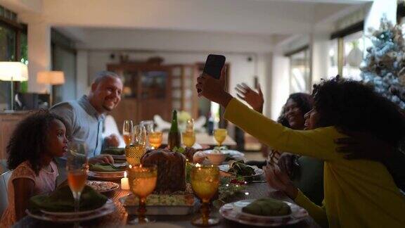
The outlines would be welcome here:
M 295 202 L 323 227 L 405 227 L 405 197 L 384 165 L 346 160 L 335 152 L 335 127 L 297 131 L 283 127 L 232 99 L 224 118 L 278 151 L 324 160 L 325 197 L 319 207 L 300 191 Z

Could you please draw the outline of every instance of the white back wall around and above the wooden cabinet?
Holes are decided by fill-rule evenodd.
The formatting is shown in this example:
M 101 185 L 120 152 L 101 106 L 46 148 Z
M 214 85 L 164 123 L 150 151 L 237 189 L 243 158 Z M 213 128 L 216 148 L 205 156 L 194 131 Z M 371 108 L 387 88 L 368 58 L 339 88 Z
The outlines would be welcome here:
M 105 70 L 108 63 L 117 63 L 118 55 L 115 53 L 115 60 L 110 60 L 110 53 L 114 51 L 102 51 L 102 50 L 90 50 L 88 51 L 88 75 L 90 80 L 96 72 L 99 70 Z M 130 61 L 146 61 L 146 59 L 153 56 L 160 56 L 165 59 L 164 64 L 176 64 L 176 63 L 204 63 L 207 54 L 203 52 L 134 52 L 126 51 L 129 55 Z M 229 88 L 233 96 L 236 96 L 234 87 L 236 84 L 245 82 L 251 87 L 254 83 L 255 72 L 259 77 L 259 83 L 262 84 L 263 94 L 267 93 L 266 88 L 266 59 L 263 55 L 255 55 L 248 53 L 222 53 L 226 56 L 226 62 L 230 64 L 230 80 Z M 248 58 L 252 57 L 252 61 L 248 61 Z M 257 58 L 257 67 L 255 66 L 255 58 Z M 255 70 L 257 68 L 257 70 Z M 84 81 L 84 80 L 83 80 Z

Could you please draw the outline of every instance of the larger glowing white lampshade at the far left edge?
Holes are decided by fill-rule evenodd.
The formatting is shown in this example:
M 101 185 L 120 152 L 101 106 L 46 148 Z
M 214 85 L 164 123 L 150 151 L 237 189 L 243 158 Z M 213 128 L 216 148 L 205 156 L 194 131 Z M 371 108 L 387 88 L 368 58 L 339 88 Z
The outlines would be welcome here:
M 27 65 L 21 62 L 0 62 L 0 80 L 27 81 Z

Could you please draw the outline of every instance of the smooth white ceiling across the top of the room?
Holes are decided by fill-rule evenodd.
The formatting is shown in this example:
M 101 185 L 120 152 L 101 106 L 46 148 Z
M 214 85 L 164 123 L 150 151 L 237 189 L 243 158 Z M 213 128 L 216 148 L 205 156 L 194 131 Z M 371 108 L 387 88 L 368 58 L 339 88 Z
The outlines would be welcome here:
M 48 23 L 83 48 L 122 46 L 122 36 L 220 37 L 257 49 L 333 23 L 367 0 L 0 0 L 21 20 Z M 100 37 L 101 34 L 108 34 Z M 118 37 L 120 36 L 120 37 Z M 105 38 L 104 38 L 105 37 Z M 108 39 L 108 41 L 103 41 Z M 174 39 L 174 38 L 173 38 Z M 112 41 L 117 40 L 117 44 Z M 248 43 L 249 43 L 248 42 Z M 237 46 L 237 45 L 236 45 Z M 124 46 L 123 46 L 124 47 Z

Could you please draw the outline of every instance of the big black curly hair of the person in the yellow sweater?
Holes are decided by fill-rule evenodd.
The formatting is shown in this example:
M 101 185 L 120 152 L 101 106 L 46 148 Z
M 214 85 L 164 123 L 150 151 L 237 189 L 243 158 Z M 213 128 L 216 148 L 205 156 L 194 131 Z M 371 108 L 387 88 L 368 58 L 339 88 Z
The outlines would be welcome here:
M 314 85 L 317 127 L 370 132 L 380 140 L 398 145 L 405 135 L 405 119 L 399 107 L 372 87 L 345 80 L 339 75 Z

